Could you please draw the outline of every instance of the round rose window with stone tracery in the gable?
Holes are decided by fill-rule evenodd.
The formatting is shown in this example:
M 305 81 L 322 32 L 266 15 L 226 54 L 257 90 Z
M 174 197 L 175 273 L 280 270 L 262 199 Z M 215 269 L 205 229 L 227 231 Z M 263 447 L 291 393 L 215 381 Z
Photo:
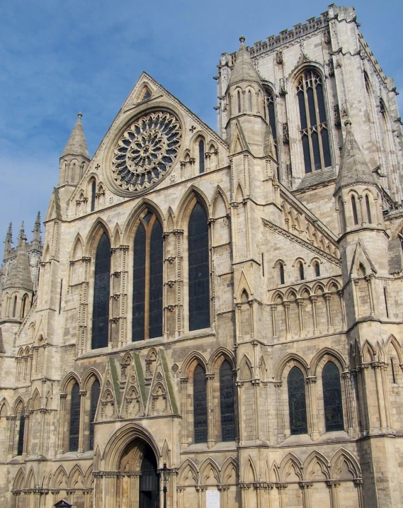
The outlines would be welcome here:
M 180 146 L 181 124 L 175 115 L 164 111 L 143 115 L 118 141 L 113 179 L 125 191 L 143 191 L 166 174 Z

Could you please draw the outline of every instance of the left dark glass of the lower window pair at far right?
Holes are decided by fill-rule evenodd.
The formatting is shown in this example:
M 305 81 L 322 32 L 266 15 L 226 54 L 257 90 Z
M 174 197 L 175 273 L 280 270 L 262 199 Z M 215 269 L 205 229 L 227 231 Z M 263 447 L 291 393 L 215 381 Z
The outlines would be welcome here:
M 307 434 L 307 402 L 305 379 L 299 368 L 293 367 L 288 374 L 288 408 L 291 434 Z

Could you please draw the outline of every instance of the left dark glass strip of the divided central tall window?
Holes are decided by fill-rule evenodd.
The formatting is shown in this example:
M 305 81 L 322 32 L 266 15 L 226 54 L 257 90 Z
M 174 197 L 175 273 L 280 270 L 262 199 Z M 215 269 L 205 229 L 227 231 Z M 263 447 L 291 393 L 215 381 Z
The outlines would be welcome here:
M 145 298 L 145 230 L 140 222 L 135 235 L 135 254 L 133 267 L 133 312 L 132 341 L 144 339 L 144 298 Z

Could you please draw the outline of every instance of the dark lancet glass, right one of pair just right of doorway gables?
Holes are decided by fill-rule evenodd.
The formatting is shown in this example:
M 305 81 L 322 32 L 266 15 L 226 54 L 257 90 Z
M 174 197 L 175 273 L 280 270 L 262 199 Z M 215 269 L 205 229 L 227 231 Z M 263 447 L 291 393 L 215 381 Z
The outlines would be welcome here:
M 234 378 L 229 361 L 222 362 L 220 368 L 220 412 L 221 441 L 235 439 L 235 400 Z

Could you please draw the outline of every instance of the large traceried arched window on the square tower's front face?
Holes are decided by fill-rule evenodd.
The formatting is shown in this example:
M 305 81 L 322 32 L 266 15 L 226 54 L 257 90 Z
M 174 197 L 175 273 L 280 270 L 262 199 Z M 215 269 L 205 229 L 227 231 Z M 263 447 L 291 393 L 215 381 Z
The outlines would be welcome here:
M 305 173 L 331 166 L 322 77 L 306 69 L 297 80 Z

